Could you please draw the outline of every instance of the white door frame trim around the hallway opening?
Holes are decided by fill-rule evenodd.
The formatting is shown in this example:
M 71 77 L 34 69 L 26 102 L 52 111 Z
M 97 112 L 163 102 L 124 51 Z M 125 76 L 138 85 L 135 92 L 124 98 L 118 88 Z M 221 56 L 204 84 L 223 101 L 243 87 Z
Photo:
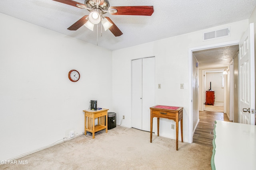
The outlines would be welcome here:
M 193 90 L 192 90 L 192 53 L 194 51 L 201 51 L 204 49 L 212 49 L 218 47 L 225 47 L 230 45 L 238 45 L 240 40 L 228 41 L 224 43 L 205 45 L 188 49 L 188 142 L 193 142 Z

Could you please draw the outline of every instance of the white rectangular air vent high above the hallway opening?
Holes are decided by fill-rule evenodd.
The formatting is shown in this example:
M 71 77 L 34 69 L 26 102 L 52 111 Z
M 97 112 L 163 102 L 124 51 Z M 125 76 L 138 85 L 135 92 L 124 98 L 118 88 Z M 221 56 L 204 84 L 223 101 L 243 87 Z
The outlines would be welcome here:
M 203 41 L 230 37 L 230 27 L 203 33 Z

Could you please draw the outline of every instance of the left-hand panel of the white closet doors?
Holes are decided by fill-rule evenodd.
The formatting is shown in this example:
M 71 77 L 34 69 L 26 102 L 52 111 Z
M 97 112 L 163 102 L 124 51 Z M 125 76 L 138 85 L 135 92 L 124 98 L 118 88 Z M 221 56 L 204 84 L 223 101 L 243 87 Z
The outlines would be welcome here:
M 142 129 L 142 59 L 132 60 L 132 127 Z

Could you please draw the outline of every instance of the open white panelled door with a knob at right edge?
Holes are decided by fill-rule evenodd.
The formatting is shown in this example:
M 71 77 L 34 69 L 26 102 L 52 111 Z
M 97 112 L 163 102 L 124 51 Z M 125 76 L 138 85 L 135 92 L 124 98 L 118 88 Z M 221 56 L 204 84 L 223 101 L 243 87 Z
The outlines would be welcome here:
M 255 124 L 254 24 L 239 43 L 239 123 Z M 246 111 L 248 110 L 248 111 Z

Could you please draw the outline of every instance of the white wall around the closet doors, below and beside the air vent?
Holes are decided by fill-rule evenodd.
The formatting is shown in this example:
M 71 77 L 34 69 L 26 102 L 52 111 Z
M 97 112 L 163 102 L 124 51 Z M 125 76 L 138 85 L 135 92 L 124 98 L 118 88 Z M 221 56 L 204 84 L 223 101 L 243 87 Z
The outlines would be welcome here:
M 202 41 L 203 31 L 220 29 L 226 26 L 231 26 L 231 37 Z M 122 125 L 131 127 L 131 60 L 155 56 L 156 87 L 158 87 L 157 84 L 161 84 L 162 86 L 160 89 L 156 88 L 155 103 L 184 107 L 184 141 L 188 142 L 189 128 L 192 129 L 192 111 L 189 110 L 192 96 L 189 95 L 189 88 L 191 87 L 188 87 L 188 75 L 192 71 L 188 70 L 189 49 L 196 47 L 203 48 L 204 46 L 229 41 L 238 41 L 247 27 L 248 20 L 243 20 L 113 51 L 113 108 L 120 115 L 125 115 L 126 119 L 122 121 Z M 184 83 L 184 89 L 180 89 L 181 83 Z M 122 119 L 120 115 L 117 115 L 118 122 Z M 161 119 L 160 135 L 175 139 L 175 131 L 170 129 L 173 123 L 174 121 L 172 120 Z

